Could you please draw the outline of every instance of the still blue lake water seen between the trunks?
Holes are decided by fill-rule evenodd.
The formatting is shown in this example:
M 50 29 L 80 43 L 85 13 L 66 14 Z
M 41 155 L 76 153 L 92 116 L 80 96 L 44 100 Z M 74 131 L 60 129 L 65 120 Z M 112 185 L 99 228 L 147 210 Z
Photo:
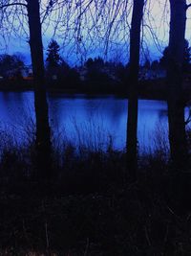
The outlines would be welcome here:
M 126 140 L 127 100 L 115 96 L 88 97 L 49 94 L 53 133 L 87 147 L 101 147 L 109 141 L 123 149 Z M 34 120 L 33 92 L 0 92 L 1 130 L 7 129 L 23 139 L 23 129 Z M 167 105 L 162 101 L 139 100 L 138 146 L 153 147 L 156 137 L 167 130 Z M 22 133 L 22 134 L 21 134 Z M 112 138 L 112 140 L 111 140 Z

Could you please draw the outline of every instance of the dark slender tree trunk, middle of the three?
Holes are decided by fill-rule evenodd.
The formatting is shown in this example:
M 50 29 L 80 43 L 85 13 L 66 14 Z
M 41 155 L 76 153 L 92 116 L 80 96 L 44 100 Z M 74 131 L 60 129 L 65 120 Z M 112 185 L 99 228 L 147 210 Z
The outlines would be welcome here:
M 138 70 L 140 49 L 140 26 L 144 0 L 134 0 L 130 32 L 129 100 L 127 121 L 127 168 L 130 178 L 137 178 L 138 168 Z

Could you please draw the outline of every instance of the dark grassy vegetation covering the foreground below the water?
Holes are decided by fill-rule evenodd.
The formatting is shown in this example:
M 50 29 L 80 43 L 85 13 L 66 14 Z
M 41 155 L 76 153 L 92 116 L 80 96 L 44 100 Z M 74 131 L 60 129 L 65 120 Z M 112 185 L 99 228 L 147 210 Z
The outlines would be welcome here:
M 191 174 L 172 173 L 167 149 L 139 155 L 131 183 L 112 142 L 53 145 L 41 179 L 33 142 L 1 142 L 0 255 L 190 255 Z

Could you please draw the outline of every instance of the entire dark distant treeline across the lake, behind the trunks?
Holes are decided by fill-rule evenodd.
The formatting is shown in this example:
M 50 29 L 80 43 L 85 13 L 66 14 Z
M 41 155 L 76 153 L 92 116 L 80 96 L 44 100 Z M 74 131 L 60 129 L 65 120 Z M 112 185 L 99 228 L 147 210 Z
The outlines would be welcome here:
M 129 64 L 88 58 L 83 64 L 71 67 L 59 54 L 60 47 L 52 40 L 47 49 L 45 78 L 49 89 L 84 93 L 128 93 Z M 183 70 L 187 80 L 191 71 L 190 47 L 185 40 Z M 139 68 L 139 93 L 149 97 L 164 97 L 168 48 L 159 60 L 145 62 Z M 0 56 L 1 89 L 32 88 L 32 66 L 22 55 Z

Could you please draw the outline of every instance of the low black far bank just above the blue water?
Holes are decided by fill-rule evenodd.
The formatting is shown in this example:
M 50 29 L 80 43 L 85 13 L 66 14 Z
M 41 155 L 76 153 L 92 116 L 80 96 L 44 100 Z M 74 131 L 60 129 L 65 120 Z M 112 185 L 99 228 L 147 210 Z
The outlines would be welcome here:
M 32 81 L 0 81 L 0 91 L 30 91 L 33 90 Z M 116 95 L 117 97 L 128 97 L 128 85 L 111 84 L 103 86 L 94 86 L 91 84 L 80 83 L 77 87 L 70 88 L 61 84 L 49 84 L 48 92 L 64 94 L 86 94 L 86 95 Z M 189 86 L 185 89 L 185 95 L 191 95 Z M 138 97 L 141 99 L 166 100 L 166 86 L 164 80 L 140 81 L 138 85 Z M 189 98 L 189 97 L 188 97 Z

